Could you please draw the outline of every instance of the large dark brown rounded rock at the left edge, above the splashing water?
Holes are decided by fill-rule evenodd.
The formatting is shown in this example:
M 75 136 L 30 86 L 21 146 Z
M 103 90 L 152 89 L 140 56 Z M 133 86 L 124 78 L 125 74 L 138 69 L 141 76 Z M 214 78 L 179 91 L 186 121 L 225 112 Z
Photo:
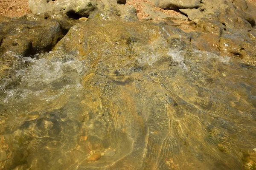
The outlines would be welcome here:
M 71 23 L 65 14 L 26 14 L 9 22 L 0 22 L 0 54 L 32 55 L 50 51 L 66 34 Z

